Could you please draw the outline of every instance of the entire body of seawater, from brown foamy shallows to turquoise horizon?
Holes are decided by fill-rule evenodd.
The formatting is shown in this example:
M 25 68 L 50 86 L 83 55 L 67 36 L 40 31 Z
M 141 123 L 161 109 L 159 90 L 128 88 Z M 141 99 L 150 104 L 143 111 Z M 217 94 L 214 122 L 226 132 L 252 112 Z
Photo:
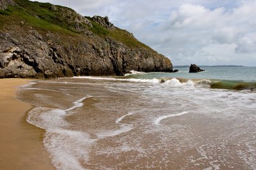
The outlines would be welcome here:
M 256 169 L 256 68 L 186 69 L 35 80 L 18 96 L 57 169 Z

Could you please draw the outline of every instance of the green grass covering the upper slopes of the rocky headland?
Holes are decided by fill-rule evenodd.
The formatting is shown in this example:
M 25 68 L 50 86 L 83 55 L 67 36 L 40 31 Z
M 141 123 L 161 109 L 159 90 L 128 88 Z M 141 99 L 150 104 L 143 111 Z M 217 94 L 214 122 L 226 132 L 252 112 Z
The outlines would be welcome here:
M 50 3 L 38 3 L 28 0 L 14 1 L 17 6 L 9 6 L 9 8 L 6 10 L 0 10 L 0 29 L 3 28 L 4 24 L 12 24 L 13 22 L 20 23 L 21 21 L 24 21 L 40 31 L 68 34 L 68 36 L 79 35 L 79 32 L 74 29 L 74 23 L 68 23 L 68 18 L 62 17 L 65 10 L 74 10 L 63 6 L 56 6 L 58 10 L 52 10 L 52 4 Z M 125 30 L 117 28 L 115 31 L 109 31 L 108 29 L 92 21 L 92 18 L 86 18 L 92 22 L 93 27 L 88 27 L 87 29 L 92 31 L 93 34 L 103 38 L 109 37 L 116 39 L 130 48 L 142 47 L 147 50 L 154 51 L 147 45 L 144 45 L 137 39 L 133 38 Z

